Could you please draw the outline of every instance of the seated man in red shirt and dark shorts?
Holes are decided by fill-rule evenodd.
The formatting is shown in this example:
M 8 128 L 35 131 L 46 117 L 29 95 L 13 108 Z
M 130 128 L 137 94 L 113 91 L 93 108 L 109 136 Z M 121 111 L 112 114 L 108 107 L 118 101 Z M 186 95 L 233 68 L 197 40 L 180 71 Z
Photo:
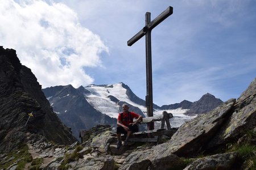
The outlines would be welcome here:
M 117 148 L 122 146 L 121 142 L 121 134 L 126 134 L 126 139 L 123 145 L 127 145 L 129 137 L 132 133 L 137 132 L 138 122 L 142 120 L 142 116 L 137 113 L 129 112 L 129 107 L 127 104 L 122 105 L 123 113 L 118 114 L 117 118 Z M 133 118 L 137 118 L 135 122 L 133 122 Z

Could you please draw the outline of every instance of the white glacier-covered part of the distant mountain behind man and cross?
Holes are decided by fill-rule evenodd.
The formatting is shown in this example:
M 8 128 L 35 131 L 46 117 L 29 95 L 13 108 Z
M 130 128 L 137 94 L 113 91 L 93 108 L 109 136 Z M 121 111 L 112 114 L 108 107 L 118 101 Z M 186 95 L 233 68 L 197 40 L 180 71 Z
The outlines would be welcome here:
M 144 100 L 139 98 L 135 100 L 137 96 L 123 83 L 103 86 L 92 84 L 84 88 L 90 92 L 85 94 L 85 99 L 101 113 L 117 118 L 118 113 L 122 111 L 120 103 L 127 103 L 130 105 L 130 111 L 134 111 L 135 107 L 140 109 L 145 117 L 147 116 L 147 108 L 145 107 Z M 180 126 L 184 121 L 193 118 L 184 114 L 188 109 L 177 108 L 163 110 L 159 106 L 154 105 L 154 115 L 162 114 L 163 111 L 174 114 L 174 121 L 172 121 L 174 126 Z

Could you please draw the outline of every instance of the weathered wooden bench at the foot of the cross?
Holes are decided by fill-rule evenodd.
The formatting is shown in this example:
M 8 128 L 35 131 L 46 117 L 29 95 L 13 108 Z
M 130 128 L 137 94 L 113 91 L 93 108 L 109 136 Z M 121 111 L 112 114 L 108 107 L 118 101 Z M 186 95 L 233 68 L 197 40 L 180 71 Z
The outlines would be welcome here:
M 173 135 L 177 131 L 177 128 L 171 128 L 169 119 L 172 117 L 172 113 L 167 113 L 166 111 L 164 111 L 162 115 L 142 118 L 142 121 L 139 122 L 139 124 L 147 124 L 155 121 L 161 121 L 161 126 L 159 129 L 138 131 L 136 133 L 133 133 L 133 136 L 129 139 L 129 142 L 159 143 L 162 135 L 168 135 L 171 137 L 171 135 Z M 167 130 L 164 128 L 165 124 L 167 125 Z

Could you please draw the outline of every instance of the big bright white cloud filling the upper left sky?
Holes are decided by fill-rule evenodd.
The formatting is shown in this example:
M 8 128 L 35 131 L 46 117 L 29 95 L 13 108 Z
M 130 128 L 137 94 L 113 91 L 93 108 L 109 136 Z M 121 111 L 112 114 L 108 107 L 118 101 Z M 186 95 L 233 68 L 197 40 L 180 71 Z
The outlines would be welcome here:
M 62 3 L 1 1 L 0 44 L 13 48 L 43 87 L 93 82 L 83 67 L 102 66 L 108 47 Z

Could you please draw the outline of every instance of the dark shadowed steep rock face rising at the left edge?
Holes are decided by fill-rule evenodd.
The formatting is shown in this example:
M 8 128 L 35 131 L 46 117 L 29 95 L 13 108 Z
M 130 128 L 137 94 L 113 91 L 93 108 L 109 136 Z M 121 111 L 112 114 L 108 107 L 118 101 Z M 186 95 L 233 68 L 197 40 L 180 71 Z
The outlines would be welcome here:
M 31 112 L 34 116 L 27 122 Z M 76 141 L 71 131 L 53 113 L 35 75 L 20 63 L 15 50 L 3 49 L 2 46 L 0 129 L 0 152 L 14 150 L 27 138 L 27 132 L 42 135 L 56 143 Z

